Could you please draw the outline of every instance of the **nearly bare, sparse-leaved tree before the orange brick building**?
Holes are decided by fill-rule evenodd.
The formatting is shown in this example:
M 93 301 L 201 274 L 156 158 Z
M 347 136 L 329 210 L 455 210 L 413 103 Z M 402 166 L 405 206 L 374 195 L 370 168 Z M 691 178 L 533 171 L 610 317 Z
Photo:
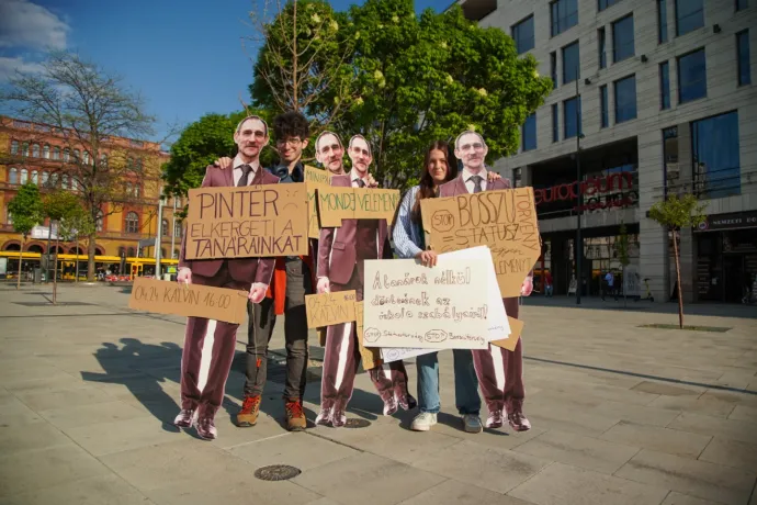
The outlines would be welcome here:
M 0 103 L 15 117 L 34 123 L 42 137 L 53 135 L 61 145 L 61 159 L 47 161 L 58 165 L 48 184 L 70 180 L 94 223 L 121 212 L 124 204 L 138 202 L 133 184 L 159 171 L 157 161 L 142 162 L 143 142 L 136 141 L 151 135 L 155 123 L 142 97 L 126 88 L 121 77 L 77 54 L 53 52 L 41 67 L 41 72 L 18 71 L 0 91 Z M 89 237 L 90 281 L 94 280 L 95 235 L 93 231 Z

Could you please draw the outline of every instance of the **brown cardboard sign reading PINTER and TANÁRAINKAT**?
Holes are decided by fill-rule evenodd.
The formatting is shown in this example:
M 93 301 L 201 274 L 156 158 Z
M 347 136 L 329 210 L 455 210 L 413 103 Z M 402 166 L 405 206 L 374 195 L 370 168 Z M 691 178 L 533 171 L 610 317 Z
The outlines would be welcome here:
M 189 190 L 187 259 L 307 254 L 304 183 Z

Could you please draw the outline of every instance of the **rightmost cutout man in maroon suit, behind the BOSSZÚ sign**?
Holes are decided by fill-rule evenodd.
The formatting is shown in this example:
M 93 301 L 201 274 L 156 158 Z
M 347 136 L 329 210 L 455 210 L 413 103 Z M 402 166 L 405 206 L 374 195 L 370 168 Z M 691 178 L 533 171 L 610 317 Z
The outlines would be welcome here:
M 473 131 L 463 132 L 455 141 L 454 154 L 463 164 L 460 176 L 444 183 L 439 189 L 439 197 L 478 193 L 481 191 L 511 188 L 510 181 L 499 179 L 487 182 L 487 170 L 484 165 L 488 147 L 484 137 Z M 520 293 L 528 296 L 533 291 L 533 274 L 523 281 Z M 510 317 L 518 317 L 518 298 L 502 299 L 505 311 Z M 499 428 L 507 416 L 512 429 L 526 431 L 531 423 L 523 415 L 523 347 L 522 340 L 513 351 L 488 346 L 488 349 L 473 350 L 473 364 L 478 375 L 484 400 L 489 411 L 487 428 Z M 504 383 L 502 383 L 504 380 Z

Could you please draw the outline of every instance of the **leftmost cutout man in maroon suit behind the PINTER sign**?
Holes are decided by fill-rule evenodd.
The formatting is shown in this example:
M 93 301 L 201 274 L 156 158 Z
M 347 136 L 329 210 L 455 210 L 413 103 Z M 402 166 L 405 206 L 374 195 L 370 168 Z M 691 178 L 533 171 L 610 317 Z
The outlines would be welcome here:
M 260 166 L 260 152 L 268 144 L 268 125 L 258 116 L 248 116 L 234 134 L 238 154 L 233 170 L 208 166 L 203 188 L 274 184 L 279 178 Z M 274 258 L 235 258 L 188 260 L 187 234 L 179 256 L 178 282 L 214 288 L 249 291 L 249 299 L 260 303 L 271 283 Z M 173 424 L 190 428 L 195 424 L 197 435 L 206 440 L 215 439 L 215 413 L 224 400 L 226 380 L 231 369 L 237 328 L 239 325 L 189 317 L 184 349 L 181 355 L 181 412 Z M 203 356 L 205 338 L 213 339 L 212 356 Z M 205 363 L 205 361 L 210 361 Z M 207 371 L 204 373 L 204 371 Z

